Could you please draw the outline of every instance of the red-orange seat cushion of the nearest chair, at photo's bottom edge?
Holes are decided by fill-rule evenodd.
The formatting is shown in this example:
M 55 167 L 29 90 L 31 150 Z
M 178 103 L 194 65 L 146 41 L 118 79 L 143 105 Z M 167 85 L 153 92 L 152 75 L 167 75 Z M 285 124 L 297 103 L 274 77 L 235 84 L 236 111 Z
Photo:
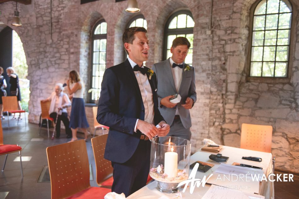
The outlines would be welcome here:
M 104 198 L 107 193 L 110 193 L 111 189 L 103 188 L 103 187 L 89 187 L 79 193 L 76 193 L 70 198 L 84 198 L 84 199 L 94 199 L 94 198 Z

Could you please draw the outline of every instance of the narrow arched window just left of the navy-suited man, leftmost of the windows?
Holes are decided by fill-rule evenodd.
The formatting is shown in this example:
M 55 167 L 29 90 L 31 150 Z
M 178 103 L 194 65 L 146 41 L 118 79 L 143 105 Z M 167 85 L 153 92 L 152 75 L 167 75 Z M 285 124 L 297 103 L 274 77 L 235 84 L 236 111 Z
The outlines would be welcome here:
M 99 99 L 99 91 L 106 69 L 107 23 L 104 19 L 98 21 L 92 34 L 91 56 L 91 100 Z

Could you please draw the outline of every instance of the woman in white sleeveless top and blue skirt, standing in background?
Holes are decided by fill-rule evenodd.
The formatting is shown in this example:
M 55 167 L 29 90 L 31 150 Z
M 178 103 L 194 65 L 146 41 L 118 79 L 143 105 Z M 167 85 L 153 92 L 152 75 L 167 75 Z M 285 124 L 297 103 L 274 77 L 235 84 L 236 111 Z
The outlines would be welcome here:
M 70 128 L 72 130 L 72 139 L 70 142 L 78 140 L 77 130 L 81 128 L 85 134 L 85 141 L 87 140 L 89 132 L 87 128 L 89 127 L 86 114 L 85 105 L 83 100 L 85 86 L 84 83 L 80 81 L 79 73 L 75 70 L 70 72 L 70 79 L 66 81 L 67 89 L 69 94 L 73 95 L 72 110 L 70 117 Z

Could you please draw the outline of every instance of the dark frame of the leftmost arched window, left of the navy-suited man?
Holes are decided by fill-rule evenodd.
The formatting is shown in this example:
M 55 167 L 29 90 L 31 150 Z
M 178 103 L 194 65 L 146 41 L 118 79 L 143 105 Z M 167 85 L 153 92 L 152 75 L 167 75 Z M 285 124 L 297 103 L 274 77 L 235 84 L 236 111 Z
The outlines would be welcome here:
M 94 26 L 93 26 L 93 29 L 92 29 L 92 32 L 91 32 L 91 56 L 90 56 L 90 85 L 89 85 L 89 89 L 92 89 L 93 88 L 93 43 L 94 43 L 94 40 L 101 40 L 101 39 L 106 39 L 107 41 L 107 32 L 108 32 L 108 23 L 107 23 L 107 32 L 106 34 L 99 34 L 99 35 L 95 35 L 94 32 L 96 30 L 96 28 L 98 27 L 99 24 L 103 23 L 103 22 L 106 22 L 105 19 L 100 19 L 98 20 Z M 107 43 L 106 43 L 106 52 L 107 52 Z M 106 53 L 106 62 L 107 62 L 107 53 Z M 105 68 L 106 68 L 106 63 L 105 63 Z M 92 100 L 92 92 L 89 94 L 89 102 L 90 103 L 95 103 L 95 100 Z

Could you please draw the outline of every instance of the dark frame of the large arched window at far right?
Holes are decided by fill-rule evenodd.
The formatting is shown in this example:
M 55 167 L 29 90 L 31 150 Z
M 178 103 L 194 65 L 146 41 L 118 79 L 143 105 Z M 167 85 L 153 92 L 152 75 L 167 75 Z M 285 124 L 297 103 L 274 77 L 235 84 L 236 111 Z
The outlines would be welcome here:
M 296 22 L 295 16 L 296 16 L 296 10 L 294 10 L 293 3 L 291 0 L 281 0 L 285 2 L 286 4 L 289 3 L 289 5 L 292 8 L 292 16 L 291 16 L 291 28 L 290 28 L 290 36 L 289 36 L 289 49 L 288 49 L 288 61 L 287 61 L 287 68 L 286 68 L 286 77 L 251 77 L 250 76 L 250 70 L 251 70 L 251 49 L 252 49 L 252 35 L 253 35 L 253 23 L 254 23 L 254 12 L 257 8 L 257 5 L 261 3 L 264 0 L 258 0 L 255 3 L 252 4 L 250 9 L 250 21 L 249 21 L 249 34 L 248 34 L 248 47 L 247 47 L 247 58 L 246 58 L 246 81 L 249 82 L 259 82 L 259 83 L 288 83 L 291 79 L 291 69 L 292 66 L 292 57 L 294 56 L 294 44 L 292 43 L 294 39 L 294 31 L 296 27 L 294 27 L 294 23 Z M 268 1 L 268 0 L 265 0 Z M 266 2 L 265 2 L 266 3 Z M 267 13 L 265 13 L 265 16 L 267 16 Z M 266 21 L 266 20 L 265 20 Z M 296 25 L 295 25 L 296 26 Z M 276 37 L 277 39 L 277 37 Z M 265 45 L 263 45 L 265 46 Z M 276 45 L 277 46 L 277 45 Z M 275 46 L 275 47 L 276 47 Z M 276 56 L 276 55 L 275 55 Z M 276 62 L 276 61 L 275 61 Z

